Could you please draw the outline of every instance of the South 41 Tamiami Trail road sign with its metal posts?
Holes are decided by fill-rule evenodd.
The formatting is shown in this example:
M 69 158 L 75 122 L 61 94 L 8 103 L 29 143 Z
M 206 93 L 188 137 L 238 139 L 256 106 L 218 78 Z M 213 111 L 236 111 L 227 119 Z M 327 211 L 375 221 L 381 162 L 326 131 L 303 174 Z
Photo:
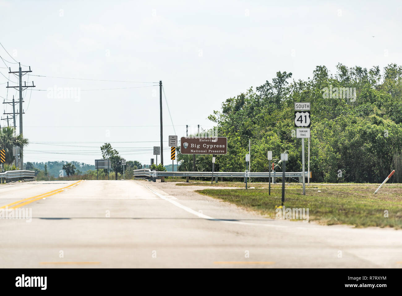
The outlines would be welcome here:
M 295 127 L 304 127 L 296 129 L 296 138 L 301 138 L 301 178 L 303 182 L 303 195 L 306 195 L 306 178 L 305 178 L 305 166 L 304 166 L 304 139 L 310 138 L 310 103 L 295 103 Z M 307 110 L 307 111 L 303 111 Z M 310 141 L 310 140 L 309 140 Z M 309 165 L 310 166 L 310 165 Z M 309 172 L 310 173 L 310 172 Z M 310 183 L 310 179 L 309 179 Z

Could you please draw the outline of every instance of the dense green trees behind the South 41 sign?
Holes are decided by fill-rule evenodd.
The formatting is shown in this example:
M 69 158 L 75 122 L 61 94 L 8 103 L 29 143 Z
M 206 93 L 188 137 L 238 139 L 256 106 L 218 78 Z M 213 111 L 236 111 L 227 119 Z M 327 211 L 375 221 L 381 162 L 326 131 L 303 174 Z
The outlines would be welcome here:
M 402 181 L 402 67 L 388 65 L 381 74 L 379 67 L 338 64 L 334 75 L 324 66 L 305 81 L 289 82 L 291 75 L 277 72 L 272 82 L 227 99 L 208 117 L 218 136 L 228 138 L 228 154 L 216 158 L 217 171 L 244 171 L 249 139 L 251 171 L 268 171 L 268 150 L 274 158 L 288 150 L 287 171 L 301 171 L 294 103 L 311 102 L 313 181 L 378 183 L 392 169 L 396 174 L 390 181 Z M 355 88 L 355 100 L 341 91 L 328 96 L 325 88 Z M 199 161 L 205 158 L 211 166 L 211 157 L 199 156 Z

